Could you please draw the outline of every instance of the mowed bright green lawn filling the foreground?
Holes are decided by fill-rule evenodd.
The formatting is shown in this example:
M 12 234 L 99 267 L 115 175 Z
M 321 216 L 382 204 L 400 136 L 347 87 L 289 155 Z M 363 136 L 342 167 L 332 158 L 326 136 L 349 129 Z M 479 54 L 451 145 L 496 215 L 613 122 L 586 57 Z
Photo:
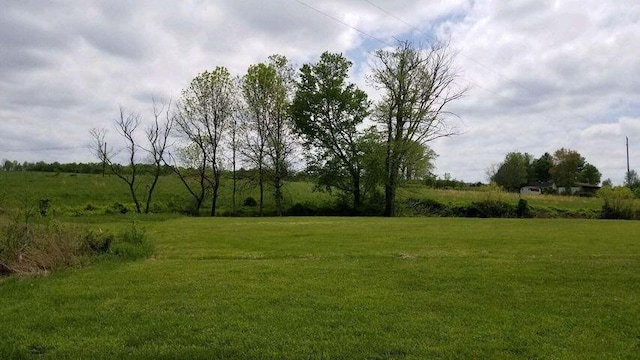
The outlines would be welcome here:
M 178 218 L 145 226 L 151 259 L 0 280 L 0 358 L 640 354 L 640 222 Z

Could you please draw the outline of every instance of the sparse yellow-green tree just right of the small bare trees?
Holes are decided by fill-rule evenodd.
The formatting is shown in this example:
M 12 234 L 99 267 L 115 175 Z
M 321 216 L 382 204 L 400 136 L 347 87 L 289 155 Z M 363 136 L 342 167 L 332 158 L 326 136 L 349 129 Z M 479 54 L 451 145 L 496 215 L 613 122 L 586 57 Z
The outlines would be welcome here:
M 183 184 L 194 196 L 199 212 L 206 190 L 211 192 L 211 216 L 215 216 L 218 189 L 222 174 L 222 138 L 233 116 L 235 87 L 229 71 L 216 67 L 197 75 L 182 91 L 176 116 L 179 134 L 191 144 L 188 149 L 197 162 L 199 189 L 190 188 L 184 176 Z M 207 169 L 208 168 L 208 169 Z M 176 167 L 177 173 L 180 174 Z M 208 174 L 208 171 L 211 171 Z

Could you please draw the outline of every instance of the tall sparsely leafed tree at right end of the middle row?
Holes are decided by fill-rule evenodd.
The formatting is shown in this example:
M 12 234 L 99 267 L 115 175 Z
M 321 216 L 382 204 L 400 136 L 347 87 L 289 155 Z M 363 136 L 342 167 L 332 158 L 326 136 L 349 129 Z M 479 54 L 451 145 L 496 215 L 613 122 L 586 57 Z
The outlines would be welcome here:
M 382 91 L 376 116 L 386 132 L 385 215 L 395 212 L 401 164 L 411 142 L 426 144 L 456 134 L 447 105 L 462 97 L 448 46 L 428 49 L 402 41 L 394 50 L 378 50 L 370 81 Z

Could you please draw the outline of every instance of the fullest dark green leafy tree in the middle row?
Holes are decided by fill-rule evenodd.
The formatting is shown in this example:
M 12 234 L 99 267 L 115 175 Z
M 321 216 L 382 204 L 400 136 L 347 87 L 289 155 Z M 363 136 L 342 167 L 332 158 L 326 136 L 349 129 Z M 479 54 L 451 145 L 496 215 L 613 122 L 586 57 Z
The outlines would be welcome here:
M 303 65 L 291 113 L 318 185 L 350 193 L 357 211 L 362 172 L 357 126 L 369 115 L 370 103 L 364 91 L 347 83 L 351 65 L 342 54 L 329 52 Z

